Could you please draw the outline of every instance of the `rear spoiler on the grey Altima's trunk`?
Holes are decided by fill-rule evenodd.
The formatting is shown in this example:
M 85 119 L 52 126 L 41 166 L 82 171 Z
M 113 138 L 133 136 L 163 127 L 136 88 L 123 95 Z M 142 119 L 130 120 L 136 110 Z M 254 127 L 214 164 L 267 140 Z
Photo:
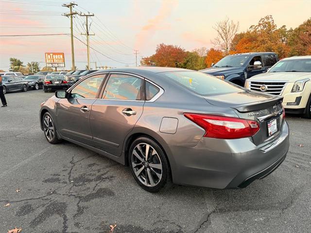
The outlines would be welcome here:
M 266 109 L 269 107 L 272 107 L 274 105 L 278 105 L 283 101 L 282 96 L 277 96 L 275 98 L 272 98 L 270 100 L 263 100 L 258 102 L 252 102 L 252 103 L 245 103 L 241 105 L 237 105 L 234 107 L 231 107 L 233 109 L 238 110 L 240 113 L 247 113 L 247 112 L 254 112 L 261 109 Z

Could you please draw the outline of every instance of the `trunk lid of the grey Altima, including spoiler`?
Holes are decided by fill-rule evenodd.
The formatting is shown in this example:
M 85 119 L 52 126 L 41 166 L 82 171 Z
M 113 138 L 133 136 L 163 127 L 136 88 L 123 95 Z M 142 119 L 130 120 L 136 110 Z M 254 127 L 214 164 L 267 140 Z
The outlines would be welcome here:
M 283 125 L 283 97 L 242 91 L 216 96 L 207 96 L 205 100 L 212 105 L 231 108 L 242 119 L 256 120 L 260 130 L 253 136 L 255 145 L 267 144 L 276 139 Z M 276 121 L 274 120 L 276 119 Z M 277 127 L 277 132 L 269 135 L 268 124 Z M 273 126 L 271 126 L 273 125 Z M 273 131 L 272 131 L 273 132 Z

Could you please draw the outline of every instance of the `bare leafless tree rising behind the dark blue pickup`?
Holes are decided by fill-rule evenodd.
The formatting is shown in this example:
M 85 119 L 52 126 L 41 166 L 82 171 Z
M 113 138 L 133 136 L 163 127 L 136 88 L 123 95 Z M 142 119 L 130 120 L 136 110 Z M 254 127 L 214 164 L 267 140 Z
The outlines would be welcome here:
M 213 29 L 217 32 L 217 37 L 211 41 L 212 44 L 228 55 L 232 39 L 239 30 L 239 22 L 235 23 L 226 17 L 224 21 L 217 22 Z

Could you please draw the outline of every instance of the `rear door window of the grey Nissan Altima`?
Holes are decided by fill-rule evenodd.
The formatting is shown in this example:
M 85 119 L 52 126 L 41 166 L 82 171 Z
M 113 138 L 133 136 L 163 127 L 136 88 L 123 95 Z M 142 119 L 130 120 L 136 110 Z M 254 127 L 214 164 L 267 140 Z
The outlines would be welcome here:
M 104 89 L 103 99 L 141 100 L 143 80 L 131 75 L 111 74 Z

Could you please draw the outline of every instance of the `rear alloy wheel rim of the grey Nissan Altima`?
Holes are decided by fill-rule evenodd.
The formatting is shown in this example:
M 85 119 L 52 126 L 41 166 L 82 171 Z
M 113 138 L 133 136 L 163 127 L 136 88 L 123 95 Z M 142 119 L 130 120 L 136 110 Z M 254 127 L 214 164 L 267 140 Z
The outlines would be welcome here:
M 132 167 L 138 180 L 146 186 L 157 185 L 162 177 L 162 163 L 156 150 L 139 143 L 132 152 Z

